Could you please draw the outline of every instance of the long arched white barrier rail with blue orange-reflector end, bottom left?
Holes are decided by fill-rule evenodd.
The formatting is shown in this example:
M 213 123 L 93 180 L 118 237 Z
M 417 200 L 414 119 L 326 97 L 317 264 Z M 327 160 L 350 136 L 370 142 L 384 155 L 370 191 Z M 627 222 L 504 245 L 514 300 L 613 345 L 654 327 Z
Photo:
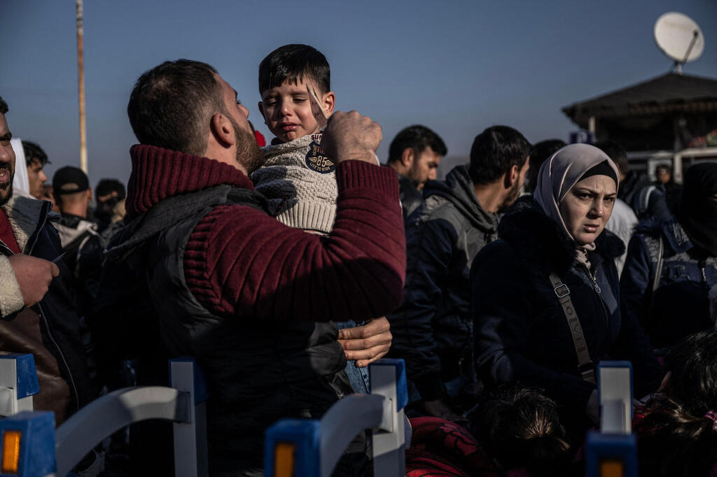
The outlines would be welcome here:
M 174 421 L 175 475 L 208 475 L 206 382 L 191 358 L 169 362 L 174 387 L 127 387 L 110 392 L 54 430 L 54 415 L 29 412 L 0 420 L 0 477 L 66 476 L 103 439 L 132 423 Z

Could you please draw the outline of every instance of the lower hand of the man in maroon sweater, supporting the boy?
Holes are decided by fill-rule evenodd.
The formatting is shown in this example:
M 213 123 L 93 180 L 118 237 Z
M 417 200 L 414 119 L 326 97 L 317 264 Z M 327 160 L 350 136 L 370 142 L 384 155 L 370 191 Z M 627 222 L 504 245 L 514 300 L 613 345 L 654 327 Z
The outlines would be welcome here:
M 393 339 L 390 328 L 389 320 L 381 317 L 360 327 L 339 329 L 338 344 L 347 360 L 356 360 L 356 366 L 365 367 L 389 352 Z

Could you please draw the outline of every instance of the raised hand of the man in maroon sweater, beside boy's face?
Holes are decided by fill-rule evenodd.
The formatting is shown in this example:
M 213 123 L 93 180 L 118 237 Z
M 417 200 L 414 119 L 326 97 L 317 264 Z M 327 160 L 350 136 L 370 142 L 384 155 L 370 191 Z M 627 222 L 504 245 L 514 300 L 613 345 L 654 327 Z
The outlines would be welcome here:
M 381 126 L 370 117 L 356 111 L 336 111 L 328 118 L 321 149 L 337 164 L 351 159 L 375 164 L 381 138 Z

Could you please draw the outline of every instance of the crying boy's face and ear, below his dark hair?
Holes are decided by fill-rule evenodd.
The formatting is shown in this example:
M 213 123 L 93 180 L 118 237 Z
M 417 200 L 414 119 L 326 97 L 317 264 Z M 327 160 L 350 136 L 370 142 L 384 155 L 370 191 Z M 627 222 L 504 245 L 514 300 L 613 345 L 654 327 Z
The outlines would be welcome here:
M 262 92 L 259 110 L 269 130 L 282 142 L 302 138 L 305 135 L 318 133 L 318 123 L 311 113 L 311 103 L 306 91 L 310 85 L 320 92 L 313 80 L 304 77 L 304 81 L 294 85 L 283 82 L 281 86 Z M 334 95 L 328 92 L 320 95 L 320 102 L 327 115 L 333 112 Z

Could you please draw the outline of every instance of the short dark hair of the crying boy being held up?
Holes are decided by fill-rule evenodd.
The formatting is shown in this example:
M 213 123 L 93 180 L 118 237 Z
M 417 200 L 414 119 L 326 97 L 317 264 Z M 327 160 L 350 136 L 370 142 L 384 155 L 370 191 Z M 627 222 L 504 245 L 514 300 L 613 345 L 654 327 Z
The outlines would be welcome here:
M 259 94 L 285 81 L 297 85 L 304 77 L 313 80 L 320 92 L 331 91 L 331 68 L 326 57 L 308 44 L 285 44 L 259 64 Z

